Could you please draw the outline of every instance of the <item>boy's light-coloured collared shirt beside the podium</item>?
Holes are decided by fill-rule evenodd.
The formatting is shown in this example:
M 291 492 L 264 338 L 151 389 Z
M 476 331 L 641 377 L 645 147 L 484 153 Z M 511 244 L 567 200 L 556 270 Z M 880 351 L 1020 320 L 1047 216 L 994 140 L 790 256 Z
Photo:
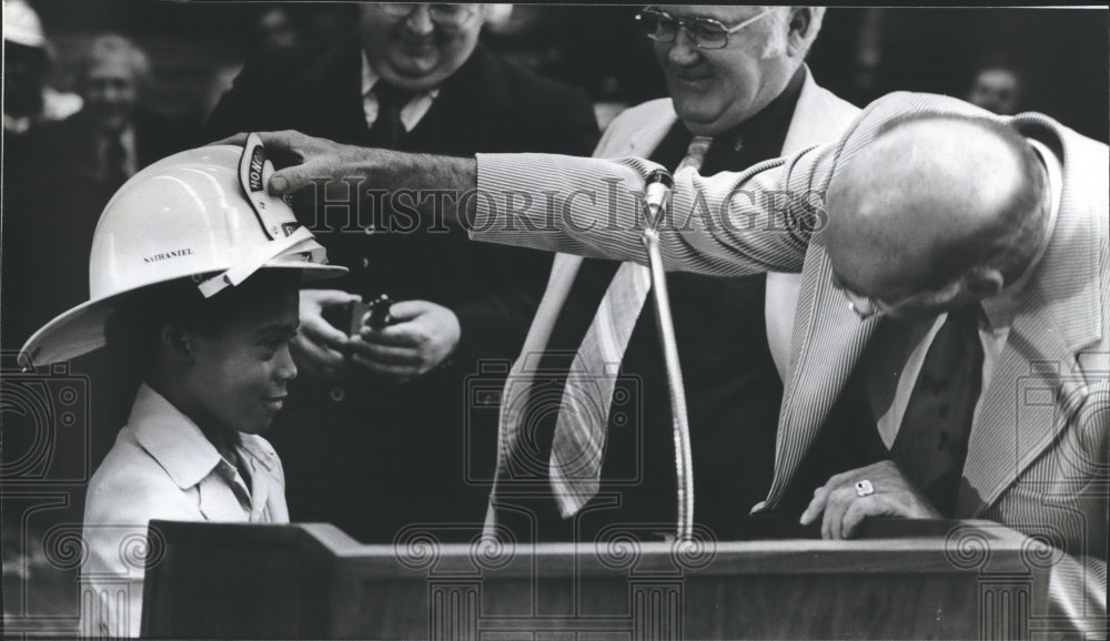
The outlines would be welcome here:
M 158 532 L 147 546 L 151 520 L 289 522 L 278 454 L 261 436 L 243 434 L 239 456 L 250 468 L 249 492 L 245 485 L 236 491 L 233 470 L 193 421 L 139 388 L 128 425 L 89 481 L 82 635 L 139 635 L 144 563 L 161 553 Z

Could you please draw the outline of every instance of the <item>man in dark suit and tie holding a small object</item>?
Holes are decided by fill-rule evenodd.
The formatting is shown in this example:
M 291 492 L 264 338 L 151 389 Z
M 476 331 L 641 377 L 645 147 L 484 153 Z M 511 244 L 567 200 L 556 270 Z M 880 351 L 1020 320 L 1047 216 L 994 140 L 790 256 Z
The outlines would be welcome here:
M 356 35 L 249 62 L 205 132 L 297 129 L 452 155 L 589 153 L 597 142 L 589 99 L 483 48 L 488 11 L 361 4 Z M 389 200 L 359 220 L 347 197 L 347 185 L 333 183 L 294 207 L 351 274 L 302 294 L 293 350 L 303 376 L 273 431 L 296 479 L 291 512 L 362 540 L 392 541 L 426 521 L 476 531 L 487 486 L 471 481 L 493 475 L 496 426 L 470 420 L 466 377 L 485 359 L 516 355 L 549 257 L 475 246 L 457 230 L 416 228 Z M 383 294 L 395 301 L 393 323 L 352 329 L 346 306 Z

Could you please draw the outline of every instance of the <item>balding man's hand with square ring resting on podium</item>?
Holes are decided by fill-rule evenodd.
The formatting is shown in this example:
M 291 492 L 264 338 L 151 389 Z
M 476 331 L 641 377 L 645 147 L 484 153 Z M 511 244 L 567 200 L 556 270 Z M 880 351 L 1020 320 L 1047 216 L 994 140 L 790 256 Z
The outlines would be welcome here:
M 890 460 L 838 474 L 814 490 L 801 525 L 821 515 L 825 539 L 851 538 L 867 517 L 942 518 Z

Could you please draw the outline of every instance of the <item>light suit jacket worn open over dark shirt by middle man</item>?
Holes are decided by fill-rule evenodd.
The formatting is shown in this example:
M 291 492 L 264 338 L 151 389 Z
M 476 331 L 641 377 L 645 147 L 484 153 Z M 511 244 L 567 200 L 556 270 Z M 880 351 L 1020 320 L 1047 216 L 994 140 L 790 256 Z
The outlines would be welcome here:
M 833 142 L 859 114 L 858 106 L 819 87 L 808 67 L 805 71 L 806 79 L 786 133 L 786 141 L 783 143 L 781 155 L 791 155 L 815 144 Z M 675 113 L 674 102 L 669 98 L 629 108 L 605 130 L 594 151 L 594 157 L 646 157 L 655 151 L 677 120 L 678 114 Z M 581 264 L 581 256 L 563 253 L 555 256 L 544 303 L 536 311 L 528 329 L 522 349 L 523 357 L 545 348 Z M 801 277 L 798 274 L 771 272 L 767 275 L 767 297 L 764 308 L 767 340 L 783 380 L 786 380 L 790 360 L 790 334 L 800 285 Z M 686 364 L 686 366 L 696 367 L 697 364 Z

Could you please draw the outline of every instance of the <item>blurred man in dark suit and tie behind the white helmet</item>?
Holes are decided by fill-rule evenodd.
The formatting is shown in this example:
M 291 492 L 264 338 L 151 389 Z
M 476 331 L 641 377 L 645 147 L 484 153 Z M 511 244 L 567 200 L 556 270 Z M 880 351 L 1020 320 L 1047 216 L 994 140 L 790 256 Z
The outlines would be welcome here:
M 149 80 L 147 54 L 131 40 L 94 37 L 77 68 L 83 106 L 29 135 L 18 164 L 33 171 L 20 180 L 6 175 L 4 266 L 53 284 L 6 283 L 7 345 L 19 345 L 59 309 L 84 299 L 89 240 L 101 210 L 124 181 L 191 138 L 181 122 L 143 105 Z

